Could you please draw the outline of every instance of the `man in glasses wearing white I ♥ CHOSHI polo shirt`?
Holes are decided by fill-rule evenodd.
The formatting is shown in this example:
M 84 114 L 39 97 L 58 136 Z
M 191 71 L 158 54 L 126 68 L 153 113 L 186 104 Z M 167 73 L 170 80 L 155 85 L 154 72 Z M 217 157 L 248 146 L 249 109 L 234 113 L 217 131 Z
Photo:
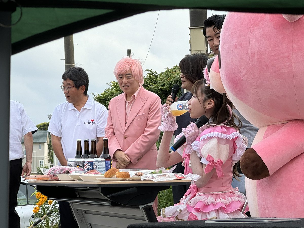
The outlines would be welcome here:
M 84 139 L 96 138 L 97 155 L 102 154 L 108 110 L 88 96 L 89 78 L 84 69 L 71 67 L 62 79 L 60 87 L 67 101 L 55 108 L 48 131 L 58 165 L 67 166 L 67 159 L 76 155 L 77 139 L 83 144 Z M 60 202 L 59 212 L 62 228 L 78 227 L 68 203 Z

